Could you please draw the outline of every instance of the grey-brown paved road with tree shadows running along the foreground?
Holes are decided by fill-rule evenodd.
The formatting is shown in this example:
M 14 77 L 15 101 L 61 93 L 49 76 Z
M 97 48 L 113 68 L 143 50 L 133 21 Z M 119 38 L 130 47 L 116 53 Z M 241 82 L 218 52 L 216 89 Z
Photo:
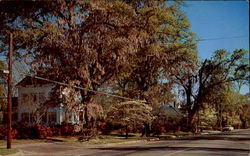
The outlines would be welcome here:
M 250 156 L 250 130 L 134 144 L 80 146 L 55 143 L 22 145 L 24 155 L 82 156 Z

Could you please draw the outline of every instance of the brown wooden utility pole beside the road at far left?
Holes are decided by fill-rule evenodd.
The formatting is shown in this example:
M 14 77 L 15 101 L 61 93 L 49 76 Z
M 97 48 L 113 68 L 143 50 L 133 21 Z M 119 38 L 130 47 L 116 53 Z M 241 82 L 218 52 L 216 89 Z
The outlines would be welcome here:
M 11 121 L 12 121 L 12 52 L 13 34 L 9 36 L 9 75 L 8 75 L 8 125 L 7 125 L 7 149 L 11 148 Z

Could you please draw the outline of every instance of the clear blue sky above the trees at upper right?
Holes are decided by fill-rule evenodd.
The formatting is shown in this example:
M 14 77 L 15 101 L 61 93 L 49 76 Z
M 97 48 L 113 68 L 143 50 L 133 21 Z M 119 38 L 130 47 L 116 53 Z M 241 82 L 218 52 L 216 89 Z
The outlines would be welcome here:
M 249 50 L 249 2 L 247 1 L 185 1 L 182 10 L 199 39 L 201 60 L 211 57 L 217 49 Z M 244 86 L 241 93 L 249 92 Z

